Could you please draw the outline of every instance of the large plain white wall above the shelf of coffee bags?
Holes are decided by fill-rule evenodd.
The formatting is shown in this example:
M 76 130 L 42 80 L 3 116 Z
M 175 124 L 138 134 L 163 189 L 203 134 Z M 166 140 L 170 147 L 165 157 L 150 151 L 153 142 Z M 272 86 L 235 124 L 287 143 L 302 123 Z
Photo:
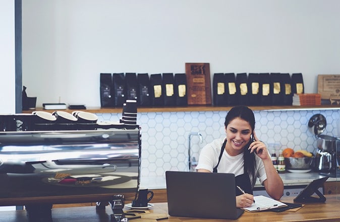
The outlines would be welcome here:
M 340 74 L 337 0 L 25 0 L 23 85 L 42 102 L 100 106 L 99 73 Z

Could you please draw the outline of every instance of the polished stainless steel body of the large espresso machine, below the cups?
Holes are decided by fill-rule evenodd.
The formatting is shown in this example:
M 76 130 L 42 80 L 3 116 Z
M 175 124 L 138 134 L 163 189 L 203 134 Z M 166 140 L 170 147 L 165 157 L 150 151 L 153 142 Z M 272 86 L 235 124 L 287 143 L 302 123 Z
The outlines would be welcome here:
M 0 205 L 42 217 L 55 203 L 121 201 L 137 193 L 140 154 L 139 129 L 0 132 Z

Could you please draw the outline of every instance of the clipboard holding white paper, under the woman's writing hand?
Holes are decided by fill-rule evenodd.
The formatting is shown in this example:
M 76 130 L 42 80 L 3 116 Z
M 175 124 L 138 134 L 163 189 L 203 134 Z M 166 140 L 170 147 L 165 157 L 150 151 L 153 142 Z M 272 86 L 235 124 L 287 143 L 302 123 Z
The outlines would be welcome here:
M 253 203 L 250 207 L 244 207 L 242 209 L 248 212 L 258 212 L 288 206 L 286 203 L 262 195 L 254 196 L 254 200 L 255 203 Z

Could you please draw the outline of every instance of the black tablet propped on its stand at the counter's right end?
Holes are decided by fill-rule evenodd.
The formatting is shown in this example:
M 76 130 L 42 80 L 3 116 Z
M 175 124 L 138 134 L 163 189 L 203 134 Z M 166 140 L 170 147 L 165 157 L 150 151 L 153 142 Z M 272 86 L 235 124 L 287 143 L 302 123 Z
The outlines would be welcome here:
M 323 183 L 329 177 L 323 177 L 320 179 L 313 180 L 310 182 L 305 189 L 294 199 L 294 202 L 325 202 L 326 198 L 323 194 L 318 190 L 319 187 L 322 187 Z M 312 197 L 313 194 L 317 194 L 319 198 Z

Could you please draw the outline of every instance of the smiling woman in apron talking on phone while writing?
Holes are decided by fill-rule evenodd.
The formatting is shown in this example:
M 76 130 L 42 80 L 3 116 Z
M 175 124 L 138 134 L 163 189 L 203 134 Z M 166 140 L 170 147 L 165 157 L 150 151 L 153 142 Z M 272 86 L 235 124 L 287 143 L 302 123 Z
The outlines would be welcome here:
M 207 144 L 201 150 L 198 172 L 235 174 L 237 207 L 248 207 L 253 201 L 253 187 L 260 179 L 274 199 L 283 195 L 284 185 L 278 176 L 266 145 L 255 133 L 255 117 L 247 106 L 233 107 L 225 117 L 226 136 Z

